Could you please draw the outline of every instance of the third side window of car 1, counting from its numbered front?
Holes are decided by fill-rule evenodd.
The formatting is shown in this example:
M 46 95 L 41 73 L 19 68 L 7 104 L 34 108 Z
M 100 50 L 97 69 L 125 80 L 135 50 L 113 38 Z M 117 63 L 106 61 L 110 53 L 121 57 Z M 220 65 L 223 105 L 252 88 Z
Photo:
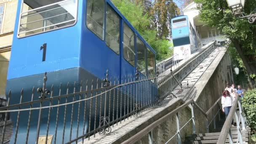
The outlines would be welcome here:
M 131 65 L 135 66 L 134 32 L 125 23 L 123 25 L 123 56 Z

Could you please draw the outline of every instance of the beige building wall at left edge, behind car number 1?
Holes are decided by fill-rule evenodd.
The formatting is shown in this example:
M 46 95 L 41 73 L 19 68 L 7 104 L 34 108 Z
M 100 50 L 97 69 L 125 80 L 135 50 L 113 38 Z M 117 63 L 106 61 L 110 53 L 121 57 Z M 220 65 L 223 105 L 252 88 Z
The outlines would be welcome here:
M 0 97 L 5 94 L 18 0 L 0 0 L 0 5 L 2 4 L 5 6 L 0 28 Z

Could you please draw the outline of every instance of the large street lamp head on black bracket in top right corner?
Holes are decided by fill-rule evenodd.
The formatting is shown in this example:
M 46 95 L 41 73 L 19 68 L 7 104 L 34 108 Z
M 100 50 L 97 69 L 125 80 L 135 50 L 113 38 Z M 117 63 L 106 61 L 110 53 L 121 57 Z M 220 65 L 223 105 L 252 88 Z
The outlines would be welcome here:
M 245 0 L 227 0 L 227 4 L 229 8 L 232 9 L 232 12 L 235 14 L 235 16 L 239 18 L 247 18 L 249 23 L 255 22 L 256 13 L 245 16 L 244 13 L 242 12 L 245 5 Z

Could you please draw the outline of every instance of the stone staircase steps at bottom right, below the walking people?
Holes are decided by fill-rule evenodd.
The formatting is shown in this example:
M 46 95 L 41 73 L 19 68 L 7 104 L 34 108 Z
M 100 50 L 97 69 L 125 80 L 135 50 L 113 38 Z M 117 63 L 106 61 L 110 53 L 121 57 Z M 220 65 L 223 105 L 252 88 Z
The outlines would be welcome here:
M 186 137 L 186 141 L 183 144 L 217 144 L 217 141 L 219 139 L 219 134 L 221 132 L 222 126 L 224 125 L 225 117 L 221 117 L 221 121 L 217 123 L 216 129 L 210 129 L 211 133 L 199 133 L 199 134 L 194 134 Z M 234 120 L 235 123 L 235 120 Z M 236 125 L 236 123 L 235 123 Z M 240 128 L 242 128 L 242 125 L 240 125 Z M 246 127 L 246 131 L 241 131 L 243 135 L 243 144 L 250 144 L 249 143 L 249 134 L 251 133 L 251 128 Z M 231 128 L 231 133 L 232 133 L 232 139 L 233 142 L 237 142 L 237 127 L 232 126 Z M 227 137 L 226 144 L 229 144 L 229 139 Z M 239 144 L 239 143 L 238 143 Z

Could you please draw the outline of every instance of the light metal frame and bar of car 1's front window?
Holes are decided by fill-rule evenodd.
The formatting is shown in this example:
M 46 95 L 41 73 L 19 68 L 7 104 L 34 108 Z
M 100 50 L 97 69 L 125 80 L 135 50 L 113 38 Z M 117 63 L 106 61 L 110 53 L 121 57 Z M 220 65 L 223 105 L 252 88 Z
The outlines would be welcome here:
M 57 3 L 52 3 L 50 5 L 45 5 L 45 6 L 42 6 L 42 7 L 39 7 L 39 8 L 34 8 L 32 10 L 29 10 L 29 11 L 35 11 L 37 9 L 41 9 L 41 8 L 46 8 L 46 7 L 49 7 L 51 5 L 56 5 L 56 4 L 59 4 L 59 3 L 64 3 L 64 2 L 67 2 L 69 0 L 62 0 L 60 2 L 57 2 Z M 51 32 L 51 31 L 55 31 L 55 30 L 58 30 L 58 29 L 64 29 L 64 28 L 67 28 L 67 27 L 72 27 L 74 26 L 75 24 L 77 24 L 77 16 L 78 16 L 78 0 L 75 0 L 75 5 L 76 5 L 76 8 L 77 8 L 77 11 L 76 11 L 76 16 L 75 16 L 75 22 L 74 24 L 70 24 L 70 25 L 67 25 L 67 26 L 64 26 L 64 27 L 59 27 L 59 28 L 55 28 L 55 29 L 50 29 L 50 30 L 46 30 L 44 32 L 37 32 L 35 34 L 31 34 L 31 35 L 26 35 L 26 36 L 19 36 L 19 33 L 20 33 L 20 23 L 21 23 L 21 15 L 23 13 L 27 13 L 29 11 L 26 11 L 26 12 L 22 12 L 23 10 L 23 3 L 24 3 L 24 0 L 21 0 L 21 7 L 20 7 L 20 12 L 19 12 L 19 23 L 18 23 L 18 29 L 17 29 L 17 38 L 21 39 L 21 38 L 24 38 L 24 37 L 30 37 L 30 36 L 33 36 L 33 35 L 40 35 L 42 33 L 46 33 L 46 32 Z M 43 27 L 42 27 L 43 29 Z

